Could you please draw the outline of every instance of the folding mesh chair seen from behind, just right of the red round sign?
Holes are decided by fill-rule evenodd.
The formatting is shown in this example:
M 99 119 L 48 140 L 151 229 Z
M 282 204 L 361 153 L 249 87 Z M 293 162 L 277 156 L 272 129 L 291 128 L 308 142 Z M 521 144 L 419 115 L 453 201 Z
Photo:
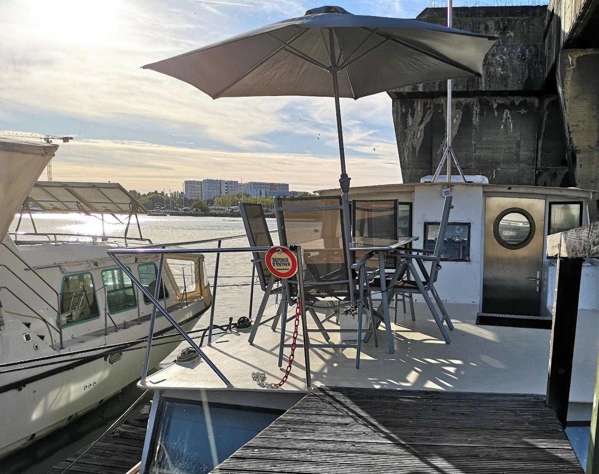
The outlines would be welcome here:
M 347 305 L 358 306 L 358 329 L 356 344 L 310 344 L 310 347 L 355 347 L 356 368 L 359 367 L 362 344 L 362 316 L 365 301 L 365 274 L 359 274 L 359 288 L 352 271 L 353 256 L 349 251 L 349 233 L 344 206 L 341 197 L 301 197 L 274 200 L 279 241 L 281 245 L 300 245 L 304 252 L 304 296 L 306 310 L 312 315 L 317 329 L 308 332 L 320 332 L 325 341 L 329 341 L 327 332 L 347 332 L 347 329 L 325 329 L 317 317 L 316 311 L 322 307 L 315 305 L 321 298 L 335 298 L 337 308 Z M 286 282 L 289 286 L 290 283 Z M 353 292 L 353 293 L 352 293 Z M 286 295 L 290 295 L 288 291 Z M 283 311 L 283 314 L 285 312 Z M 279 346 L 279 367 L 283 361 L 285 344 L 286 317 L 281 318 L 281 341 Z M 374 325 L 374 319 L 372 319 Z M 374 326 L 373 326 L 374 327 Z M 364 329 L 372 332 L 373 329 Z M 307 341 L 306 341 L 307 342 Z

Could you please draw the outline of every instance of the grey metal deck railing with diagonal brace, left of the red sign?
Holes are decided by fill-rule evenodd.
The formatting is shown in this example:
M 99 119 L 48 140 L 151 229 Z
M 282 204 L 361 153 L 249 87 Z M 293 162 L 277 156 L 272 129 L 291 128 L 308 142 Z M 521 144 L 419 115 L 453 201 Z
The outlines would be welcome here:
M 162 284 L 162 269 L 164 268 L 165 255 L 168 254 L 170 256 L 170 255 L 176 255 L 176 254 L 194 254 L 194 253 L 216 254 L 214 284 L 213 284 L 212 301 L 211 301 L 211 308 L 210 308 L 210 323 L 208 325 L 208 341 L 207 341 L 207 343 L 208 343 L 208 345 L 210 345 L 211 337 L 212 337 L 212 328 L 213 328 L 213 324 L 214 324 L 214 308 L 216 307 L 216 288 L 217 288 L 217 281 L 218 281 L 217 277 L 218 277 L 218 266 L 219 266 L 220 254 L 223 254 L 223 253 L 227 253 L 227 254 L 229 254 L 229 253 L 233 253 L 233 254 L 265 253 L 270 249 L 270 247 L 222 247 L 222 245 L 221 245 L 223 240 L 235 239 L 235 238 L 240 238 L 240 237 L 245 237 L 245 236 L 246 235 L 228 236 L 228 237 L 219 237 L 219 238 L 213 238 L 213 239 L 204 239 L 202 241 L 178 242 L 177 244 L 168 244 L 168 245 L 172 245 L 170 248 L 167 248 L 167 244 L 158 244 L 158 245 L 154 245 L 153 247 L 138 247 L 138 248 L 128 247 L 128 248 L 115 248 L 115 249 L 108 250 L 108 255 L 114 260 L 114 262 L 119 266 L 119 268 L 123 271 L 123 273 L 126 274 L 129 278 L 131 278 L 131 281 L 135 284 L 135 286 L 138 287 L 140 292 L 143 293 L 143 295 L 145 295 L 146 298 L 149 299 L 149 301 L 152 303 L 152 315 L 150 316 L 150 324 L 149 324 L 147 346 L 146 346 L 146 356 L 144 358 L 144 364 L 143 364 L 143 368 L 141 371 L 141 385 L 146 385 L 147 371 L 149 368 L 148 364 L 149 364 L 149 357 L 150 357 L 150 348 L 152 346 L 153 328 L 154 328 L 154 323 L 156 320 L 156 313 L 159 311 L 162 314 L 162 316 L 164 316 L 168 320 L 168 322 L 171 323 L 173 328 L 176 329 L 176 331 L 179 332 L 179 334 L 181 336 L 183 336 L 184 340 L 186 340 L 187 343 L 190 344 L 192 349 L 195 350 L 195 352 L 198 353 L 198 355 L 202 359 L 204 359 L 206 364 L 208 364 L 208 367 L 210 367 L 211 370 L 213 370 L 214 373 L 217 374 L 217 376 L 220 378 L 220 380 L 222 380 L 222 382 L 225 383 L 225 385 L 228 388 L 234 388 L 234 386 L 231 384 L 231 382 L 229 382 L 229 380 L 225 376 L 225 374 L 222 373 L 220 368 L 217 367 L 216 364 L 214 364 L 214 362 L 210 360 L 210 358 L 208 358 L 208 356 L 198 346 L 198 344 L 196 344 L 195 341 L 193 341 L 193 339 L 187 334 L 187 332 L 183 328 L 181 328 L 181 326 L 179 326 L 179 324 L 170 315 L 170 313 L 167 311 L 167 309 L 159 303 L 158 296 L 159 296 L 159 289 Z M 180 247 L 173 248 L 174 245 L 187 245 L 187 244 L 193 244 L 193 243 L 199 243 L 199 242 L 202 242 L 202 243 L 218 242 L 218 244 L 217 244 L 216 248 L 214 248 L 214 247 L 212 247 L 212 248 L 180 248 Z M 295 253 L 295 255 L 297 256 L 298 268 L 303 268 L 301 248 L 299 246 L 293 246 L 293 247 L 288 247 L 288 248 L 289 248 L 289 250 L 293 251 Z M 152 295 L 152 293 L 149 292 L 149 290 L 146 287 L 143 286 L 143 284 L 141 284 L 140 280 L 138 280 L 138 278 L 135 277 L 135 275 L 131 272 L 131 270 L 129 268 L 127 268 L 125 263 L 122 263 L 119 259 L 119 256 L 143 255 L 143 254 L 157 254 L 159 256 L 156 289 L 155 289 L 153 295 Z M 253 279 L 252 279 L 252 282 L 253 282 Z M 298 287 L 299 287 L 299 292 L 298 292 L 299 299 L 300 299 L 300 301 L 304 301 L 304 286 L 303 286 L 302 272 L 298 272 Z M 309 388 L 311 386 L 310 355 L 309 355 L 309 345 L 310 344 L 309 344 L 309 340 L 308 340 L 308 333 L 307 333 L 307 326 L 306 326 L 305 305 L 303 305 L 303 304 L 300 305 L 300 313 L 301 313 L 302 331 L 303 331 L 303 338 L 304 338 L 303 347 L 304 347 L 304 358 L 305 358 L 305 364 L 304 364 L 305 383 Z

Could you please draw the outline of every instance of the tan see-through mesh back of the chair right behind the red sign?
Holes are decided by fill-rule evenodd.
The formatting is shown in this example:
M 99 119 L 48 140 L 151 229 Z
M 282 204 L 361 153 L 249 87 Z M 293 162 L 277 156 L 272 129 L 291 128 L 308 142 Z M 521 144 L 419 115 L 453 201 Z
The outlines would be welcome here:
M 347 232 L 340 197 L 275 198 L 281 245 L 304 250 L 304 291 L 349 296 Z

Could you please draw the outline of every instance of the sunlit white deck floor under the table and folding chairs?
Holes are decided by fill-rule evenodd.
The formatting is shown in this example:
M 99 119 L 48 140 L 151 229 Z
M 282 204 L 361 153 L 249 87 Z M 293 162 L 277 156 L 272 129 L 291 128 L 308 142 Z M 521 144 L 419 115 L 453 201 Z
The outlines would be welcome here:
M 475 305 L 447 304 L 455 330 L 450 331 L 452 343 L 445 344 L 425 305 L 415 306 L 415 322 L 409 314 L 400 312 L 398 325 L 393 326 L 395 353 L 388 353 L 385 332 L 380 326 L 379 347 L 374 347 L 373 340 L 362 344 L 358 370 L 355 349 L 311 349 L 313 385 L 534 394 L 546 391 L 550 331 L 477 326 Z M 310 323 L 308 317 L 308 325 L 313 327 Z M 325 326 L 338 327 L 329 322 Z M 287 329 L 289 343 L 292 322 Z M 264 372 L 268 382 L 276 383 L 287 365 L 288 348 L 283 368 L 277 367 L 278 330 L 273 332 L 270 323 L 261 326 L 253 346 L 247 342 L 249 331 L 223 335 L 213 340 L 210 347 L 202 348 L 235 389 L 259 389 L 252 380 L 252 373 L 256 371 Z M 571 403 L 592 402 L 599 348 L 597 334 L 599 314 L 580 311 Z M 339 342 L 339 335 L 331 333 L 331 340 Z M 322 336 L 311 333 L 311 341 L 322 342 Z M 306 389 L 304 367 L 303 349 L 298 348 L 291 376 L 283 389 Z M 225 389 L 200 359 L 171 364 L 150 376 L 148 385 L 150 388 Z

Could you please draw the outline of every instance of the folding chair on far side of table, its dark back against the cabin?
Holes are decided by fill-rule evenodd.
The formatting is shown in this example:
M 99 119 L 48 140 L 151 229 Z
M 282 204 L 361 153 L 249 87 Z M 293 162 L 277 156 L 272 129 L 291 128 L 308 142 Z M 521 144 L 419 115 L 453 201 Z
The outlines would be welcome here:
M 355 237 L 385 237 L 398 238 L 399 217 L 397 199 L 352 200 L 352 234 Z M 356 253 L 356 260 L 361 259 L 364 253 Z M 399 263 L 398 257 L 387 256 L 385 269 L 393 270 Z M 367 266 L 372 264 L 367 262 Z M 375 263 L 376 266 L 379 262 Z M 404 313 L 406 313 L 406 298 L 410 301 L 410 313 L 415 320 L 414 301 L 412 295 L 395 293 L 394 322 L 397 324 L 398 295 L 401 296 Z

